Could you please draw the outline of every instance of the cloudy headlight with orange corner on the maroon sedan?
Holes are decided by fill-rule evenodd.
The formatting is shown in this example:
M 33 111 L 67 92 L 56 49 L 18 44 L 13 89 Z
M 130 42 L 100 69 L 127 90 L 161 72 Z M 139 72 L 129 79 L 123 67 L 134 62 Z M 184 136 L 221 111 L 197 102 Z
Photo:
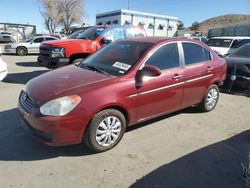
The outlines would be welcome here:
M 51 100 L 40 107 L 40 112 L 47 116 L 64 116 L 71 112 L 79 103 L 81 98 L 78 95 Z

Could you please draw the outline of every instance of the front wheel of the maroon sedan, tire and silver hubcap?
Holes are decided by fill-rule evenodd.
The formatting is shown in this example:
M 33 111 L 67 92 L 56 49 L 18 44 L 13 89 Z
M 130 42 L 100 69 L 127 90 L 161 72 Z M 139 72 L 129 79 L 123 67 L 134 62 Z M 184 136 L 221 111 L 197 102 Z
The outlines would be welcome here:
M 119 143 L 126 129 L 124 115 L 115 109 L 97 113 L 89 124 L 85 135 L 85 144 L 94 152 L 103 152 Z

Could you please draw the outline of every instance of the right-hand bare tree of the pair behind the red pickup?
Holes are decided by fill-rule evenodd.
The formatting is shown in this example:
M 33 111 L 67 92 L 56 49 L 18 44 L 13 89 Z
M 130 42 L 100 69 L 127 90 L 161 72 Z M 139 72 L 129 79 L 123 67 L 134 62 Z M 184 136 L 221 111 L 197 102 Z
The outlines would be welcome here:
M 57 0 L 58 8 L 61 14 L 60 23 L 68 33 L 73 23 L 81 23 L 85 15 L 84 0 Z

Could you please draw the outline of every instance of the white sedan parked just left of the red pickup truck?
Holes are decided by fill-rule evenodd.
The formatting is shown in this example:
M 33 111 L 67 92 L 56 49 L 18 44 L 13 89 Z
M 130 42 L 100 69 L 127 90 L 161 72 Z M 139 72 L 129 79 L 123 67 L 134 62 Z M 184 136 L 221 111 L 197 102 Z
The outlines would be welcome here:
M 17 55 L 39 54 L 39 46 L 44 41 L 58 40 L 53 36 L 38 36 L 21 43 L 6 44 L 4 52 Z

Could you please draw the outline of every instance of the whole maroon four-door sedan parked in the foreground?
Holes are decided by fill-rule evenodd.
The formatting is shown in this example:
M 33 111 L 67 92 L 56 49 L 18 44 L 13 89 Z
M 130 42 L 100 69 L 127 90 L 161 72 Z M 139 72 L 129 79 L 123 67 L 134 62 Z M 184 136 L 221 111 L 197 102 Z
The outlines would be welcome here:
M 208 112 L 219 99 L 226 63 L 192 39 L 116 41 L 82 63 L 45 73 L 21 91 L 24 128 L 42 142 L 113 148 L 126 128 L 197 105 Z

